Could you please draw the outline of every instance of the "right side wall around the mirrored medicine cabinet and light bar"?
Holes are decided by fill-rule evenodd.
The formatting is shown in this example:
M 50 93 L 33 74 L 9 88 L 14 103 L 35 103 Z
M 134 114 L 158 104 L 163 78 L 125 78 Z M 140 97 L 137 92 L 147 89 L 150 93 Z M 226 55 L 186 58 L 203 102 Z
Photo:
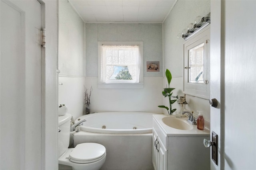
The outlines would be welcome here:
M 193 23 L 196 16 L 205 16 L 210 12 L 210 0 L 179 0 L 170 12 L 163 24 L 163 39 L 164 39 L 164 69 L 168 68 L 172 73 L 172 82 L 170 87 L 176 88 L 173 95 L 183 96 L 183 43 L 184 39 L 177 38 L 178 33 L 181 33 L 189 23 Z M 164 74 L 165 76 L 165 74 Z M 164 78 L 164 87 L 167 81 Z M 210 120 L 209 100 L 186 95 L 188 105 L 186 109 L 194 111 L 203 111 L 204 118 Z M 164 105 L 168 106 L 168 100 L 164 100 Z M 174 108 L 180 110 L 180 105 L 176 102 Z M 166 111 L 165 111 L 166 113 Z

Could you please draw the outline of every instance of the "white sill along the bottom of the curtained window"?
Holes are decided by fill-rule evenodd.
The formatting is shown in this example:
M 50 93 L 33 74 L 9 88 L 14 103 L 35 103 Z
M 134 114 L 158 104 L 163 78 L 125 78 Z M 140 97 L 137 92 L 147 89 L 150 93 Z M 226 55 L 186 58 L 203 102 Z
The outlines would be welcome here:
M 144 83 L 101 83 L 98 82 L 98 88 L 144 88 Z

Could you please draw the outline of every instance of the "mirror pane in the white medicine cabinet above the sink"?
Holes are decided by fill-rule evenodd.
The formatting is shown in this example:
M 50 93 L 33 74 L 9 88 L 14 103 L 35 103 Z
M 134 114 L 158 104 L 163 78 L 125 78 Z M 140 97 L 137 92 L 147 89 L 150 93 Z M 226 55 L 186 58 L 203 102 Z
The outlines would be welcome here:
M 188 82 L 203 83 L 204 43 L 189 50 Z

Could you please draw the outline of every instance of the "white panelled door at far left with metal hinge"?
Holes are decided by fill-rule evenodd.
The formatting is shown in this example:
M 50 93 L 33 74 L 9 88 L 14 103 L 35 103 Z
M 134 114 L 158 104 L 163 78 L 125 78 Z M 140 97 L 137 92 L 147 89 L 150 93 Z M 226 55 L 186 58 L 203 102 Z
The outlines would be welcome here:
M 0 0 L 0 169 L 41 169 L 41 4 Z

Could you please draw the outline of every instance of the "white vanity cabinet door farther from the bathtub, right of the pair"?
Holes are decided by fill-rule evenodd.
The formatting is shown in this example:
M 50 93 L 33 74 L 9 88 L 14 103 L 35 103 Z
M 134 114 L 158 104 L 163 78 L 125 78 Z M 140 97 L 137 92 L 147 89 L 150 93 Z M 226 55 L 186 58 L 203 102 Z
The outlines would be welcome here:
M 162 141 L 158 139 L 159 152 L 158 152 L 158 170 L 167 170 L 167 150 Z

